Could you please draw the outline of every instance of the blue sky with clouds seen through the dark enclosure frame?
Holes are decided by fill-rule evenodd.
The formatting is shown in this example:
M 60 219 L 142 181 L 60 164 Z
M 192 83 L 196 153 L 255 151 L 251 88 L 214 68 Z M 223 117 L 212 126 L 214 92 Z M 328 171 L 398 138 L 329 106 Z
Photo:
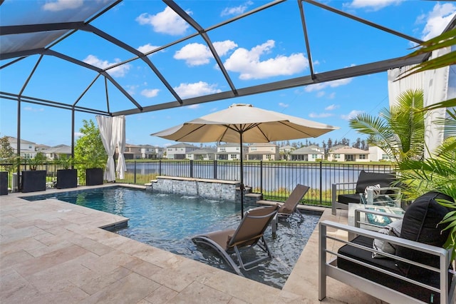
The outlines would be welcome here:
M 2 26 L 18 22 L 14 9 L 21 10 L 24 20 L 33 23 L 42 21 L 34 13 L 37 9 L 43 13 L 40 16 L 45 18 L 48 16 L 46 14 L 59 14 L 63 21 L 68 21 L 76 18 L 76 12 L 83 7 L 83 0 L 16 1 L 15 6 L 11 6 L 11 2 L 6 0 L 0 6 Z M 205 29 L 266 4 L 266 1 L 176 2 Z M 327 0 L 323 3 L 422 40 L 440 34 L 456 14 L 456 4 L 450 1 Z M 414 46 L 410 41 L 309 4 L 304 4 L 304 11 L 316 72 L 404 56 Z M 161 1 L 123 1 L 96 19 L 93 25 L 143 53 L 195 31 Z M 309 75 L 308 54 L 297 1 L 277 4 L 209 31 L 208 35 L 237 88 Z M 73 34 L 71 39 L 65 39 L 52 49 L 100 68 L 133 57 L 128 51 L 83 31 Z M 157 51 L 149 58 L 182 98 L 229 90 L 216 61 L 199 36 Z M 18 64 L 1 69 L 0 90 L 19 93 L 37 60 L 38 56 L 30 56 Z M 8 62 L 1 61 L 1 65 Z M 108 72 L 142 106 L 174 101 L 171 93 L 139 60 L 117 66 Z M 44 56 L 26 86 L 24 96 L 73 103 L 95 76 L 93 71 L 52 56 Z M 108 88 L 111 111 L 134 107 L 112 85 Z M 172 142 L 152 137 L 150 133 L 222 110 L 232 103 L 252 103 L 259 108 L 340 127 L 338 131 L 311 138 L 311 141 L 321 143 L 328 138 L 334 141 L 346 137 L 353 142 L 360 136 L 348 127 L 348 119 L 361 112 L 376 115 L 381 108 L 388 106 L 387 76 L 386 73 L 371 74 L 197 106 L 130 115 L 126 118 L 127 142 L 167 146 Z M 78 102 L 78 105 L 89 108 L 105 104 L 104 81 L 101 78 Z M 17 135 L 16 115 L 16 101 L 0 99 L 0 136 Z M 83 119 L 95 121 L 95 116 L 76 113 L 76 131 L 82 126 Z M 71 112 L 23 103 L 21 138 L 49 146 L 61 143 L 69 145 Z

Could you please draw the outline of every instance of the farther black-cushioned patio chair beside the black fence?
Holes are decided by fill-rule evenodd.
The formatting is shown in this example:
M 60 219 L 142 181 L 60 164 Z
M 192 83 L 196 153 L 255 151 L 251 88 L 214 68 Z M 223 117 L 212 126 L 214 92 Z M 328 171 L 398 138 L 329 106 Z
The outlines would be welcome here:
M 394 173 L 366 172 L 359 173 L 356 183 L 333 183 L 331 188 L 332 214 L 336 216 L 336 210 L 348 210 L 349 203 L 366 203 L 364 193 L 369 186 L 377 186 L 377 196 L 369 196 L 369 203 L 382 205 L 393 203 L 400 206 L 400 187 L 395 186 Z M 370 187 L 369 187 L 370 188 Z

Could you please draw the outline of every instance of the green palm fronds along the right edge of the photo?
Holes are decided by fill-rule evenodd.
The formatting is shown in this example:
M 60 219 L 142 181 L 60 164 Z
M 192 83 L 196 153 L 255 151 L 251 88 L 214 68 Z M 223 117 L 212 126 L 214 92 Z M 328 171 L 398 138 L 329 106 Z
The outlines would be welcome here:
M 434 51 L 444 47 L 452 47 L 456 43 L 456 29 L 447 31 L 440 36 L 425 41 L 420 45 L 420 49 L 408 55 L 408 57 L 418 56 L 425 52 Z M 411 69 L 408 75 L 438 69 L 443 66 L 456 64 L 456 51 L 418 64 Z M 410 74 L 411 73 L 411 74 Z M 434 121 L 441 126 L 445 126 L 447 139 L 437 148 L 430 158 L 424 161 L 415 161 L 413 159 L 405 160 L 399 163 L 401 180 L 409 185 L 409 195 L 415 196 L 427 191 L 439 191 L 456 200 L 456 109 L 450 108 L 456 106 L 456 98 L 435 103 L 432 106 L 423 108 L 423 113 L 432 111 L 436 108 L 447 108 L 447 118 Z M 447 224 L 445 230 L 450 230 L 450 235 L 445 243 L 445 248 L 452 252 L 452 260 L 456 258 L 456 203 L 451 201 L 439 201 L 442 206 L 452 210 L 443 218 L 442 223 Z

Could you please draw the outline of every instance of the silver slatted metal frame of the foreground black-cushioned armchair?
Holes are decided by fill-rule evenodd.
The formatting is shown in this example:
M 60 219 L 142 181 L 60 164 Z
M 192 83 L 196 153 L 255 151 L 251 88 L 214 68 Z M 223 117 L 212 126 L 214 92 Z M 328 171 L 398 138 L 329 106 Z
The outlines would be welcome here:
M 435 291 L 436 293 L 440 293 L 440 303 L 441 304 L 449 304 L 455 303 L 456 295 L 455 295 L 455 285 L 456 285 L 456 278 L 453 277 L 452 284 L 448 285 L 448 276 L 452 275 L 449 273 L 448 268 L 450 267 L 450 252 L 445 250 L 444 248 L 439 248 L 432 245 L 427 245 L 423 243 L 418 243 L 412 240 L 405 240 L 403 238 L 398 238 L 391 235 L 381 234 L 375 231 L 366 230 L 363 228 L 359 228 L 362 223 L 360 221 L 360 212 L 367 212 L 367 213 L 374 213 L 374 214 L 382 214 L 376 213 L 375 211 L 366 211 L 357 209 L 356 212 L 356 226 L 348 226 L 343 225 L 341 223 L 335 223 L 331 221 L 322 221 L 319 223 L 319 245 L 318 245 L 318 300 L 323 300 L 326 298 L 326 278 L 334 278 L 339 280 L 347 285 L 351 285 L 358 290 L 361 290 L 365 293 L 373 295 L 375 298 L 379 298 L 380 300 L 384 300 L 388 303 L 424 303 L 416 298 L 411 297 L 410 295 L 405 295 L 404 293 L 400 293 L 398 290 L 394 290 L 392 288 L 385 287 L 379 283 L 375 283 L 373 280 L 369 280 L 368 278 L 362 278 L 359 275 L 351 273 L 347 270 L 343 270 L 338 268 L 337 260 L 338 258 L 344 258 L 346 260 L 350 260 L 353 263 L 358 263 L 360 267 L 370 268 L 372 270 L 377 270 L 382 273 L 391 275 L 394 278 L 398 278 L 403 280 L 404 282 L 413 283 L 417 286 L 422 288 L 428 288 L 430 290 Z M 384 213 L 383 213 L 384 214 Z M 400 218 L 398 216 L 397 218 Z M 406 260 L 404 258 L 399 258 L 395 255 L 390 255 L 388 253 L 382 253 L 390 258 L 402 259 L 406 263 L 410 263 L 411 265 L 416 265 L 420 267 L 424 267 L 427 269 L 431 269 L 437 273 L 440 273 L 440 286 L 439 288 L 434 288 L 429 285 L 425 285 L 424 283 L 420 283 L 418 281 L 412 280 L 410 278 L 406 278 L 405 276 L 398 275 L 396 273 L 390 273 L 388 270 L 384 270 L 382 268 L 378 268 L 375 265 L 363 263 L 362 261 L 354 260 L 349 258 L 346 255 L 341 255 L 340 253 L 334 252 L 331 250 L 333 245 L 331 243 L 333 240 L 337 242 L 353 245 L 354 247 L 358 248 L 359 250 L 368 250 L 371 252 L 377 252 L 373 248 L 366 248 L 362 245 L 358 245 L 356 243 L 351 243 L 351 238 L 349 237 L 348 241 L 338 238 L 337 236 L 333 236 L 333 233 L 328 233 L 328 229 L 337 229 L 339 231 L 346 231 L 348 235 L 364 235 L 370 238 L 376 238 L 379 240 L 384 240 L 389 243 L 394 243 L 395 245 L 412 248 L 413 250 L 417 250 L 423 253 L 429 253 L 430 255 L 437 255 L 440 259 L 440 267 L 439 268 L 431 268 L 430 266 L 423 265 L 417 263 L 413 260 Z M 331 242 L 328 244 L 328 242 Z M 332 258 L 328 260 L 328 255 L 333 255 L 336 258 Z

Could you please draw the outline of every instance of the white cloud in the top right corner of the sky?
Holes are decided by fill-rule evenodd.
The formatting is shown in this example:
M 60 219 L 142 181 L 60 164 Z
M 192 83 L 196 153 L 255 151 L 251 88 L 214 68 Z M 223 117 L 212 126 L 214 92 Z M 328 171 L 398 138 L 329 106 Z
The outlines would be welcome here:
M 429 14 L 418 17 L 418 19 L 426 21 L 422 39 L 426 41 L 442 34 L 455 14 L 456 6 L 454 4 L 435 4 L 434 9 Z

